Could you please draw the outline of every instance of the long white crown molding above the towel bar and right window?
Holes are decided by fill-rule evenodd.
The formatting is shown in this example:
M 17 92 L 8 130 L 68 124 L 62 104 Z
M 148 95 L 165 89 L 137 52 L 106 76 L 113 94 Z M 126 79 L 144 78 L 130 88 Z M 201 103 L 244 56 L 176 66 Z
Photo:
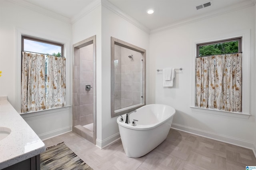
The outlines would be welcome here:
M 254 6 L 255 4 L 256 4 L 256 0 L 247 0 L 247 1 L 235 4 L 233 6 L 222 8 L 220 10 L 215 10 L 214 12 L 204 14 L 203 16 L 188 18 L 186 20 L 175 22 L 175 23 L 169 24 L 167 26 L 152 29 L 152 30 L 150 30 L 150 34 L 155 34 L 155 33 L 162 32 L 162 31 L 165 31 L 165 30 L 169 30 L 171 28 L 175 28 L 175 27 L 178 27 L 178 26 L 183 26 L 183 25 L 190 24 L 190 23 L 193 23 L 193 22 L 198 22 L 200 20 L 205 20 L 205 19 L 208 19 L 208 18 L 212 18 L 212 17 L 215 17 L 215 16 L 226 14 L 228 12 L 232 12 L 234 10 L 240 10 L 240 9 L 243 9 L 243 8 Z

